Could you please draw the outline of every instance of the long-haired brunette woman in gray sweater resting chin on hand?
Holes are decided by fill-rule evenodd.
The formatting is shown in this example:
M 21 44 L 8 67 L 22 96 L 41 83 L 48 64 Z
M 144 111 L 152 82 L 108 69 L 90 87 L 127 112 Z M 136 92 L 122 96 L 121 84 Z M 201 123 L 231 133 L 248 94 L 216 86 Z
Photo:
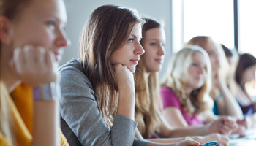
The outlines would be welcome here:
M 59 69 L 61 129 L 70 145 L 160 145 L 134 139 L 132 72 L 144 53 L 143 23 L 135 10 L 124 7 L 104 5 L 91 13 L 80 39 L 80 59 Z

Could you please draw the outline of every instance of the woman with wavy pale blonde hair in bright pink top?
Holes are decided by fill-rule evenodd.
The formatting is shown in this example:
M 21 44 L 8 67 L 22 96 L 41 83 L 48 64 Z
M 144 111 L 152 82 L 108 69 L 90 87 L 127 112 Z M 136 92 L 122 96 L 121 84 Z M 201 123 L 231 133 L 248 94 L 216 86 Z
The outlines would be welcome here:
M 188 45 L 173 55 L 161 88 L 162 113 L 170 126 L 202 126 L 217 120 L 210 91 L 211 63 L 203 48 Z M 230 134 L 235 125 L 229 118 L 219 123 L 222 134 Z

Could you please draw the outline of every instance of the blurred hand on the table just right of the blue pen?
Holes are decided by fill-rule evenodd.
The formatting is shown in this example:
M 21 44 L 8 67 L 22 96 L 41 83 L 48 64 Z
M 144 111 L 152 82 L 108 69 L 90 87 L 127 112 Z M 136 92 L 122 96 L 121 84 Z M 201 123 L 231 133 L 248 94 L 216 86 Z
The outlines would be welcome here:
M 218 145 L 223 144 L 225 146 L 228 145 L 228 141 L 229 141 L 229 138 L 227 136 L 222 134 L 217 134 L 217 133 L 209 134 L 204 137 L 195 137 L 194 139 L 197 142 L 200 142 L 201 144 L 204 144 L 206 142 L 211 142 L 211 141 L 217 141 Z

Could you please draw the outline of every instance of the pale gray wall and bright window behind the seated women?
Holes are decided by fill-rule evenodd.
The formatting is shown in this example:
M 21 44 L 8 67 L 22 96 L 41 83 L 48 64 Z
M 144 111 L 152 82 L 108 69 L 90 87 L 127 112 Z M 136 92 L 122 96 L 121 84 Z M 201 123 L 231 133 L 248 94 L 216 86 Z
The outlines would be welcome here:
M 166 55 L 159 78 L 172 53 L 199 35 L 210 36 L 238 53 L 256 56 L 256 0 L 64 0 L 67 35 L 72 45 L 64 51 L 61 64 L 79 57 L 80 32 L 91 12 L 103 4 L 132 7 L 144 16 L 165 21 Z

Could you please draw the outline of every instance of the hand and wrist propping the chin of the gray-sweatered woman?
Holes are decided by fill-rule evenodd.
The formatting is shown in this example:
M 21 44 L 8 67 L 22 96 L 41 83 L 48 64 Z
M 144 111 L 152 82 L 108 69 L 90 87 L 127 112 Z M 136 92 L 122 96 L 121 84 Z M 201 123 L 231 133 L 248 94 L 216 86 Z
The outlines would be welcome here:
M 132 95 L 135 95 L 135 83 L 133 79 L 133 74 L 127 66 L 121 64 L 115 64 L 114 70 L 116 73 L 116 82 L 118 85 L 118 91 L 129 91 Z

